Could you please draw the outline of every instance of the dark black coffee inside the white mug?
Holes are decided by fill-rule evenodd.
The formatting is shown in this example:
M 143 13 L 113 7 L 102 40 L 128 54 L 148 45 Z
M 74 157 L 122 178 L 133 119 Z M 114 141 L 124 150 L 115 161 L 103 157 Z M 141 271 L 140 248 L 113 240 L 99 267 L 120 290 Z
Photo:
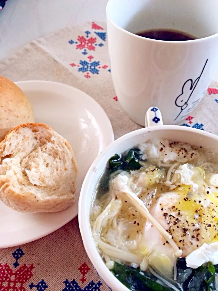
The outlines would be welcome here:
M 197 37 L 191 35 L 190 33 L 176 29 L 164 29 L 164 28 L 144 30 L 141 32 L 137 32 L 136 35 L 171 42 L 197 39 Z

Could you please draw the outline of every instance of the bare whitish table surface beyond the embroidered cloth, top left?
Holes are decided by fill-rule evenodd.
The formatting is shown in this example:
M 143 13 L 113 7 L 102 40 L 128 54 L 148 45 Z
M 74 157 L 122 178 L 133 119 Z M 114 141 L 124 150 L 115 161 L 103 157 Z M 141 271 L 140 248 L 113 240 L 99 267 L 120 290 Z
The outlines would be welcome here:
M 35 38 L 76 23 L 106 20 L 108 0 L 9 0 L 0 12 L 0 61 Z

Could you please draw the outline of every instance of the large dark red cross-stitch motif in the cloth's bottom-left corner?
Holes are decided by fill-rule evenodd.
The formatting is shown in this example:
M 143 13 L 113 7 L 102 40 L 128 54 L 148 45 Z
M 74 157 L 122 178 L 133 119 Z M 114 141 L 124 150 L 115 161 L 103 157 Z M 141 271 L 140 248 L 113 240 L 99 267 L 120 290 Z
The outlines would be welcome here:
M 26 291 L 23 286 L 32 276 L 33 264 L 23 264 L 15 272 L 8 266 L 0 264 L 0 290 L 1 291 Z

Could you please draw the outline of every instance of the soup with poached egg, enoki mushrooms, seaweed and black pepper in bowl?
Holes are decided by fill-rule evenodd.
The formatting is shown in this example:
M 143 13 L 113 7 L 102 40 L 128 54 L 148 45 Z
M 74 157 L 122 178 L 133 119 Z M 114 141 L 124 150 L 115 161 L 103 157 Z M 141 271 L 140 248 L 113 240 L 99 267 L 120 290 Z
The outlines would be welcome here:
M 114 155 L 90 223 L 106 266 L 130 290 L 198 290 L 209 269 L 216 284 L 218 155 L 167 139 Z

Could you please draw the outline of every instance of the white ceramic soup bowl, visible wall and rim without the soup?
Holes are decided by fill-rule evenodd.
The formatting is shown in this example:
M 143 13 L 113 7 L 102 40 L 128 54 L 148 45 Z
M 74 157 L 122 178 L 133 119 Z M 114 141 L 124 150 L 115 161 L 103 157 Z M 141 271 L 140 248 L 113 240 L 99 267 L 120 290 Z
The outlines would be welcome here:
M 150 126 L 127 133 L 107 146 L 91 165 L 82 185 L 79 198 L 79 227 L 84 247 L 98 275 L 113 291 L 128 291 L 129 289 L 107 269 L 94 243 L 89 221 L 92 199 L 108 159 L 148 139 L 163 138 L 187 142 L 194 146 L 202 146 L 206 151 L 218 152 L 218 136 L 212 133 L 180 125 Z

